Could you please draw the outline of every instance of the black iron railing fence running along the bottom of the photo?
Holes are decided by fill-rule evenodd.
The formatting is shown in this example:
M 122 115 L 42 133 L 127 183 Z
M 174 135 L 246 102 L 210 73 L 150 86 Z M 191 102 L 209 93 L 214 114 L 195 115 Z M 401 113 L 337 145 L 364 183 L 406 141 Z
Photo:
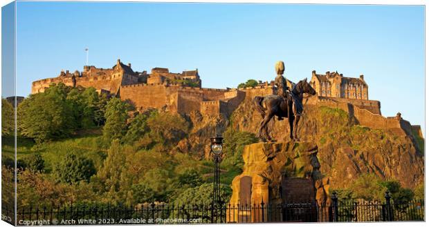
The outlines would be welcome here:
M 18 225 L 85 224 L 205 224 L 245 222 L 327 222 L 327 221 L 423 221 L 424 201 L 394 203 L 346 201 L 333 198 L 329 205 L 295 203 L 267 205 L 224 204 L 139 204 L 111 206 L 68 204 L 26 206 L 17 210 Z M 2 214 L 13 214 L 3 207 Z M 11 216 L 10 216 L 11 217 Z

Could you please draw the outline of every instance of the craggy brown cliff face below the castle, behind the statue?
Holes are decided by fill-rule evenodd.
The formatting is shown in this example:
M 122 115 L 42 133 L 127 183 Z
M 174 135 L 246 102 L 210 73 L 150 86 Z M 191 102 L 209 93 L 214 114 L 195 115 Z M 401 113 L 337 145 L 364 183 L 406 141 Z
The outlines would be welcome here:
M 262 117 L 250 100 L 245 100 L 230 118 L 236 130 L 257 133 Z M 370 129 L 356 124 L 344 110 L 306 105 L 298 136 L 318 146 L 320 172 L 329 177 L 332 188 L 346 188 L 361 174 L 374 172 L 382 179 L 399 180 L 414 188 L 424 179 L 424 157 L 410 135 L 389 129 Z M 289 141 L 289 124 L 272 120 L 268 124 L 277 141 Z

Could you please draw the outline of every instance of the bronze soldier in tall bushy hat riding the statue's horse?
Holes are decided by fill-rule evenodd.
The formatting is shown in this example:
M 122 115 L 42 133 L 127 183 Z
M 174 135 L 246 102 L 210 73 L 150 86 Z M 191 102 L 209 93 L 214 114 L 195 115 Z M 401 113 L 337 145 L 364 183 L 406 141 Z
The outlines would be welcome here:
M 291 92 L 290 88 L 287 86 L 286 78 L 283 77 L 284 73 L 284 63 L 283 61 L 277 61 L 275 63 L 275 71 L 277 72 L 277 77 L 275 77 L 275 86 L 277 86 L 277 95 L 283 97 L 285 100 L 288 100 L 289 95 L 293 99 L 293 107 L 294 108 L 294 115 L 300 116 L 302 115 L 302 103 L 296 97 L 293 92 Z M 288 95 L 289 94 L 289 95 Z M 282 117 L 278 117 L 277 120 L 282 121 Z

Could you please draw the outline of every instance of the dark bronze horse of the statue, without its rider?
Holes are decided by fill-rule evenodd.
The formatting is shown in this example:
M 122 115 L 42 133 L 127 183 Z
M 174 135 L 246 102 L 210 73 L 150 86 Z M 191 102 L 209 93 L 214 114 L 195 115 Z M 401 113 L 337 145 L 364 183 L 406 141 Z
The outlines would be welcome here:
M 307 82 L 306 78 L 293 86 L 291 93 L 293 93 L 296 99 L 302 103 L 304 93 L 316 95 L 316 90 L 310 86 L 310 83 Z M 288 95 L 287 99 L 284 99 L 278 95 L 267 95 L 265 97 L 257 96 L 253 99 L 253 102 L 255 103 L 256 110 L 262 115 L 262 121 L 257 134 L 259 139 L 262 139 L 262 141 L 266 141 L 267 139 L 268 141 L 272 141 L 268 133 L 268 122 L 270 122 L 274 116 L 277 116 L 287 117 L 289 120 L 289 128 L 291 130 L 291 140 L 300 140 L 298 139 L 297 135 L 300 115 L 295 115 L 296 110 L 295 106 L 293 106 L 293 98 L 290 94 Z

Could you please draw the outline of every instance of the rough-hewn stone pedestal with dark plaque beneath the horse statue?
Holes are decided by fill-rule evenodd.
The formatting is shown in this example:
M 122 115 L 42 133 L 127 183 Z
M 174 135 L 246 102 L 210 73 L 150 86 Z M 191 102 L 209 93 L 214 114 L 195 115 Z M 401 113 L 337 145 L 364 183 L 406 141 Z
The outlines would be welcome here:
M 227 221 L 268 221 L 267 208 L 282 204 L 326 205 L 329 180 L 320 173 L 317 152 L 316 144 L 310 142 L 245 146 L 243 173 L 232 180 L 230 207 L 237 210 L 227 213 Z M 269 221 L 282 221 L 282 215 Z

